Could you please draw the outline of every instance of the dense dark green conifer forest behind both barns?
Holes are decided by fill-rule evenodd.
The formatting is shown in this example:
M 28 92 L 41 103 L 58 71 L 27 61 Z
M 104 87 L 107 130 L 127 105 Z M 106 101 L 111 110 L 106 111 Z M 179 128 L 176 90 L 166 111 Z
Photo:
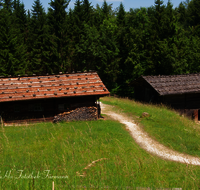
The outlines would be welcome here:
M 178 7 L 155 0 L 125 11 L 103 2 L 0 0 L 0 75 L 95 70 L 113 94 L 134 96 L 141 75 L 200 72 L 200 0 Z

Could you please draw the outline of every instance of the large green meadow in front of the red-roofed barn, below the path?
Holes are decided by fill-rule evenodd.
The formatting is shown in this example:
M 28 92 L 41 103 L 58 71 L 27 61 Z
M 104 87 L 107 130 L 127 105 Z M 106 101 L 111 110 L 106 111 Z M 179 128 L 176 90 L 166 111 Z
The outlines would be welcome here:
M 1 128 L 0 160 L 3 190 L 200 187 L 200 167 L 148 154 L 110 120 Z

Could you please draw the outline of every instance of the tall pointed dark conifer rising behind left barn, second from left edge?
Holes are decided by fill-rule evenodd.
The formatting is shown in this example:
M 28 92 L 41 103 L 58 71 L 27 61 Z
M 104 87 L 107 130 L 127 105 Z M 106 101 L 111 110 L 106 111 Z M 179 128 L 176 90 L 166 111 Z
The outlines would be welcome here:
M 49 36 L 48 28 L 46 24 L 46 13 L 40 2 L 35 0 L 31 10 L 30 20 L 30 39 L 29 54 L 31 56 L 31 62 L 29 64 L 30 73 L 48 73 L 51 72 L 49 68 L 50 62 L 50 50 L 49 50 Z

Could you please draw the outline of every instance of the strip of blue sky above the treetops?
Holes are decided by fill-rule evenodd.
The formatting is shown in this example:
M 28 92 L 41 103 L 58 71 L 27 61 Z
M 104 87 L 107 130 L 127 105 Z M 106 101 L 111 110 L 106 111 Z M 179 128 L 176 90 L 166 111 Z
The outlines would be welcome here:
M 42 3 L 46 12 L 49 7 L 48 3 L 50 1 L 51 0 L 40 0 L 40 2 Z M 178 5 L 180 4 L 181 1 L 185 1 L 185 0 L 171 0 L 171 3 L 174 5 L 174 7 L 178 7 Z M 21 0 L 21 2 L 24 3 L 26 10 L 28 10 L 28 9 L 31 10 L 34 0 Z M 71 0 L 68 8 L 73 9 L 74 2 L 75 2 L 75 0 Z M 96 7 L 97 4 L 99 4 L 101 6 L 103 3 L 103 0 L 89 0 L 89 2 L 91 3 L 92 6 Z M 129 11 L 130 8 L 150 7 L 150 6 L 154 5 L 155 0 L 107 0 L 108 4 L 113 4 L 113 6 L 112 6 L 113 9 L 119 7 L 120 2 L 123 3 L 125 10 Z M 166 4 L 167 2 L 168 2 L 168 0 L 164 0 L 164 4 Z

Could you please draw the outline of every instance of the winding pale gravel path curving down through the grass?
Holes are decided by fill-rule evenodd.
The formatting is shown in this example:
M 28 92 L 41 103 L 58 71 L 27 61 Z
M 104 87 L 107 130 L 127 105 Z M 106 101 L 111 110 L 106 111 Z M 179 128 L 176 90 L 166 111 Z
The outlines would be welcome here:
M 118 114 L 111 110 L 112 106 L 101 103 L 102 113 L 110 116 L 111 118 L 119 121 L 122 124 L 125 124 L 136 143 L 138 143 L 143 149 L 145 149 L 149 153 L 157 155 L 162 159 L 181 162 L 185 164 L 200 165 L 200 158 L 171 150 L 170 148 L 153 140 L 148 135 L 148 133 L 143 131 L 139 126 L 134 123 L 133 120 L 131 120 L 126 115 L 122 113 Z

